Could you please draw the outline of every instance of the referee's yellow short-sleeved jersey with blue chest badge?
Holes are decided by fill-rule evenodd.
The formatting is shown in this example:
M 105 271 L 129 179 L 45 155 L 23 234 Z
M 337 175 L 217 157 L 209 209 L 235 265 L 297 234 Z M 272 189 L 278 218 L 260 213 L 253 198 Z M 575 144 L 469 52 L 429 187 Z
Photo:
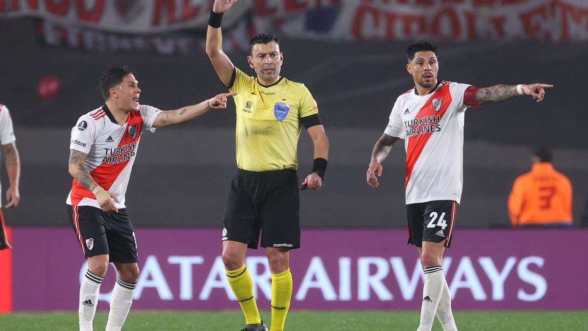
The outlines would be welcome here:
M 235 67 L 229 91 L 237 112 L 237 166 L 249 171 L 298 169 L 300 118 L 318 114 L 304 84 L 280 78 L 264 86 Z

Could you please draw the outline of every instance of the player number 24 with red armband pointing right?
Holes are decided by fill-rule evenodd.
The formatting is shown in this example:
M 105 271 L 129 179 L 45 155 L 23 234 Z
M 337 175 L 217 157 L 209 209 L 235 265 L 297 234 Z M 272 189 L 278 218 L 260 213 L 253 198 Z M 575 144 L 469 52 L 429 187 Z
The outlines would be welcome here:
M 452 241 L 463 186 L 463 119 L 468 107 L 531 95 L 537 102 L 549 84 L 495 85 L 476 88 L 440 81 L 437 47 L 420 40 L 406 51 L 406 70 L 415 87 L 401 94 L 376 142 L 366 181 L 379 186 L 382 161 L 399 139 L 406 150 L 408 243 L 417 247 L 423 267 L 423 301 L 418 331 L 429 331 L 435 316 L 443 330 L 457 330 L 449 287 L 443 274 L 443 251 Z

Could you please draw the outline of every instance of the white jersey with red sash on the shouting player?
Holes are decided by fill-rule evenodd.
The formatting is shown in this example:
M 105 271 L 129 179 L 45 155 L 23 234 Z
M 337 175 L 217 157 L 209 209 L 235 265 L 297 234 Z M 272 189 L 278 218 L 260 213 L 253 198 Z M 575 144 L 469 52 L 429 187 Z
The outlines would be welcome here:
M 119 203 L 112 200 L 116 208 L 125 208 L 126 187 L 131 177 L 131 168 L 139 147 L 141 133 L 152 128 L 155 117 L 161 110 L 141 105 L 138 111 L 129 112 L 126 123 L 118 125 L 106 105 L 82 115 L 72 128 L 71 150 L 88 154 L 85 166 L 92 179 L 106 191 L 114 194 Z M 77 180 L 72 182 L 67 204 L 100 208 L 96 197 Z

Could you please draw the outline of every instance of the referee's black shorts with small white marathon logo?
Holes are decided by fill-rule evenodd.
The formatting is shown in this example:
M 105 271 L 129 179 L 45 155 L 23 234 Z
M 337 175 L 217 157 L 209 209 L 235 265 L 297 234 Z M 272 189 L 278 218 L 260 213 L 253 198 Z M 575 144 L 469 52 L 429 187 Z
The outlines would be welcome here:
M 226 196 L 222 240 L 257 249 L 300 247 L 300 197 L 296 170 L 239 169 Z

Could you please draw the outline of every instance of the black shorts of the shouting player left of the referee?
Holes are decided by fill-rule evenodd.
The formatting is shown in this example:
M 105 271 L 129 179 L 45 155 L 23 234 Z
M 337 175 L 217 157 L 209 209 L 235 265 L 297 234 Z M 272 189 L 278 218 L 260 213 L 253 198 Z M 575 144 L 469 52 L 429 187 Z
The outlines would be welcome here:
M 110 262 L 137 262 L 135 231 L 126 208 L 106 213 L 92 206 L 68 204 L 68 214 L 86 259 L 108 254 Z

